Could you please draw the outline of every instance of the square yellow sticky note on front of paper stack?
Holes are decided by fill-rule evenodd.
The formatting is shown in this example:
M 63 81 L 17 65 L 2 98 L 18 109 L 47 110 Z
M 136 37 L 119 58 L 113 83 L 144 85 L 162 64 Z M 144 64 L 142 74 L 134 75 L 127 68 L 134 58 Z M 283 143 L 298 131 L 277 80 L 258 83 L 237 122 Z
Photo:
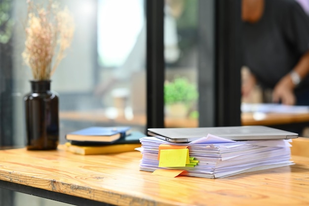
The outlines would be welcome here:
M 188 148 L 160 151 L 159 167 L 186 166 L 186 164 L 190 164 Z

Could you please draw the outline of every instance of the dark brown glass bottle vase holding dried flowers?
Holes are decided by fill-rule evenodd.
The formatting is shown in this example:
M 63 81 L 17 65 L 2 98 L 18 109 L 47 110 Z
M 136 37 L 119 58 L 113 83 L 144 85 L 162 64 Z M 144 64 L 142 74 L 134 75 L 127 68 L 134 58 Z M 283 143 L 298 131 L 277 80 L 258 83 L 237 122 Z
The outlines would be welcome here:
M 30 81 L 32 91 L 24 97 L 28 150 L 54 150 L 59 142 L 59 98 L 50 81 Z

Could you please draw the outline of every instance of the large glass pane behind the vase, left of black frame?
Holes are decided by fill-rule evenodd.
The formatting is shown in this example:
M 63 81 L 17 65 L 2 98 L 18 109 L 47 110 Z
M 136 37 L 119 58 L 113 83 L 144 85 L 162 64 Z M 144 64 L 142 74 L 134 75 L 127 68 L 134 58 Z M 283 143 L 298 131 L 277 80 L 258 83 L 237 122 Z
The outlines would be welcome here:
M 29 80 L 32 80 L 31 70 L 21 56 L 25 46 L 27 4 L 20 0 L 7 1 L 12 26 L 0 22 L 0 146 L 24 146 L 23 97 L 30 91 Z M 46 5 L 48 1 L 35 2 Z M 65 142 L 67 132 L 94 125 L 129 125 L 144 132 L 143 0 L 59 2 L 68 7 L 75 20 L 72 44 L 51 77 L 51 89 L 60 99 L 60 143 Z M 12 34 L 8 33 L 9 41 L 3 42 L 5 28 Z

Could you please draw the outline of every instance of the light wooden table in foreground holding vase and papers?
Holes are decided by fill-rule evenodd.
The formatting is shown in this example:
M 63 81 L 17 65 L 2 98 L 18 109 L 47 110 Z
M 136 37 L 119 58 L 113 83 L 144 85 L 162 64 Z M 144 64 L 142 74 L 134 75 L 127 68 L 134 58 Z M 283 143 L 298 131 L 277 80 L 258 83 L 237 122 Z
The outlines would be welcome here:
M 141 157 L 140 152 L 81 156 L 62 149 L 1 150 L 0 187 L 91 206 L 309 205 L 309 157 L 292 156 L 296 165 L 221 179 L 156 176 L 139 170 Z

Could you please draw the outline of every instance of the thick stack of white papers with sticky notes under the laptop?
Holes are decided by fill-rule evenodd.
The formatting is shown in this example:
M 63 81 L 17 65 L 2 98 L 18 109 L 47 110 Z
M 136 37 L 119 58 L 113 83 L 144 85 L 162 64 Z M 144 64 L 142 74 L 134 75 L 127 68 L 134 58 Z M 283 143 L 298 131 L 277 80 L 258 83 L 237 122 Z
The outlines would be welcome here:
M 179 170 L 181 175 L 219 178 L 293 165 L 290 141 L 232 141 L 208 134 L 190 143 L 171 143 L 143 137 L 140 169 Z

